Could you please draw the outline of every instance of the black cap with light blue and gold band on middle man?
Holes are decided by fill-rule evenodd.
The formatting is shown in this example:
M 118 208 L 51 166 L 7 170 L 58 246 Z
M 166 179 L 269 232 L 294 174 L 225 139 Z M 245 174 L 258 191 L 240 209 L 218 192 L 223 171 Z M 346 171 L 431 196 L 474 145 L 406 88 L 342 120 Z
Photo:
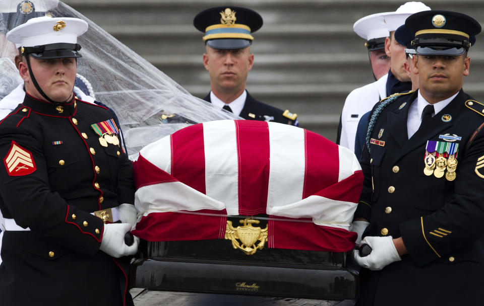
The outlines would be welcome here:
M 193 25 L 204 32 L 205 44 L 214 49 L 242 49 L 250 46 L 251 35 L 262 27 L 259 13 L 240 7 L 210 8 L 195 16 Z

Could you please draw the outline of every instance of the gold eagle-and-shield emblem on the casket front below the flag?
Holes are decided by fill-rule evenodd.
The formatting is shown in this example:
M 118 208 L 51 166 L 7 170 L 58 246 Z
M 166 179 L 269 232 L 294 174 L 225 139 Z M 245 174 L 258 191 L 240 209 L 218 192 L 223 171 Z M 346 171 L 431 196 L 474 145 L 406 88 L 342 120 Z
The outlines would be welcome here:
M 266 228 L 254 227 L 252 224 L 259 224 L 260 221 L 251 218 L 241 219 L 239 222 L 244 225 L 233 227 L 232 221 L 227 220 L 225 239 L 232 241 L 234 249 L 240 249 L 247 255 L 253 255 L 257 249 L 262 250 L 267 241 L 267 226 Z M 256 245 L 257 241 L 260 242 Z

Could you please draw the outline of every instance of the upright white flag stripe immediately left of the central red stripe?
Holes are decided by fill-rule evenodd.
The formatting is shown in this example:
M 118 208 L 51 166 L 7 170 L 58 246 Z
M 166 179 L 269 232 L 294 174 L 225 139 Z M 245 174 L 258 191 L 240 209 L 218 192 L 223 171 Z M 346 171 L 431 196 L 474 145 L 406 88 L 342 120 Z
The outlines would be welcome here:
M 238 155 L 233 120 L 203 123 L 205 193 L 238 214 Z

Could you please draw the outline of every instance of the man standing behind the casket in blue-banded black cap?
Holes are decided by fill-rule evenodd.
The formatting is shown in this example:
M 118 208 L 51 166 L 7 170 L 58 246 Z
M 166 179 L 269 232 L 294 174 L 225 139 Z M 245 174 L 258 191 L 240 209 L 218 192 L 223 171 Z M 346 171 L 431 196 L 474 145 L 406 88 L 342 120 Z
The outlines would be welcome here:
M 205 101 L 248 120 L 298 125 L 297 115 L 257 101 L 246 90 L 254 63 L 252 33 L 262 27 L 262 17 L 239 7 L 216 7 L 200 12 L 194 26 L 205 33 L 203 64 L 210 74 L 211 91 Z

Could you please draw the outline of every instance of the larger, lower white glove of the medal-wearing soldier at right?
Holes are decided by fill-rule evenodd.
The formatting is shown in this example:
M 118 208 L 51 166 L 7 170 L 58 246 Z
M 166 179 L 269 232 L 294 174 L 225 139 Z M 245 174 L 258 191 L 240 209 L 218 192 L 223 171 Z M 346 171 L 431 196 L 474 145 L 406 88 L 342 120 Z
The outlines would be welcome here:
M 366 257 L 359 256 L 359 251 L 353 251 L 354 260 L 361 267 L 370 270 L 381 270 L 385 266 L 395 261 L 400 261 L 402 258 L 398 255 L 397 249 L 393 244 L 393 238 L 391 236 L 386 237 L 365 237 L 359 244 L 369 245 L 373 250 L 370 255 Z

